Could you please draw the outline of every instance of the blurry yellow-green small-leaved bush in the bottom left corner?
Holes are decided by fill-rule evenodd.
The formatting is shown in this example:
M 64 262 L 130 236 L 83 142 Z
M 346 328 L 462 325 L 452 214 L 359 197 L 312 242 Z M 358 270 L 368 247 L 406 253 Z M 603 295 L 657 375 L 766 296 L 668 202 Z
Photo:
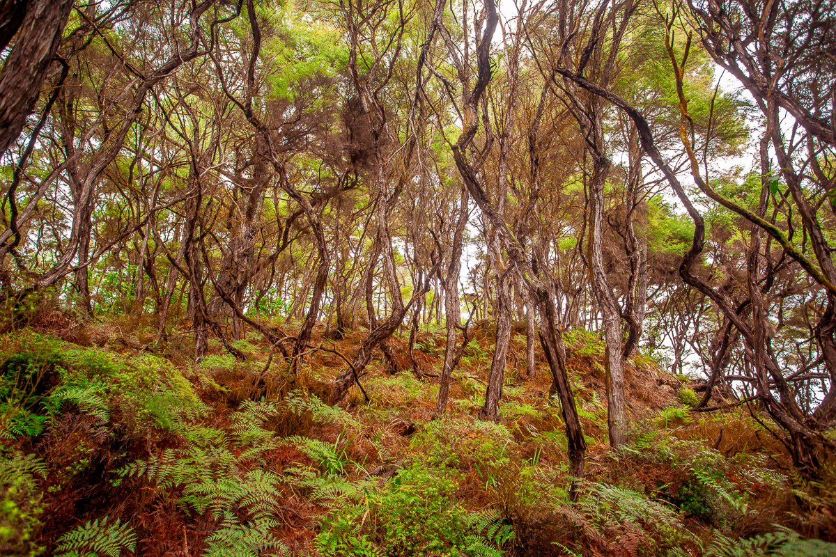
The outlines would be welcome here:
M 43 548 L 34 542 L 43 514 L 36 476 L 46 477 L 46 466 L 32 454 L 15 451 L 0 458 L 0 549 L 33 557 Z

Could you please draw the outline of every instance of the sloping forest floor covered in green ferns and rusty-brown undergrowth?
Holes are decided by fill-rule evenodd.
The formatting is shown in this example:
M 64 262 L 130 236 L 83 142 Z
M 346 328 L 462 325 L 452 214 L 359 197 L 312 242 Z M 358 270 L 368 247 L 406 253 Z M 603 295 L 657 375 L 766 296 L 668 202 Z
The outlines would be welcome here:
M 184 324 L 185 325 L 185 324 Z M 292 327 L 286 327 L 292 330 Z M 130 331 L 130 332 L 128 332 Z M 313 346 L 349 358 L 365 329 Z M 630 446 L 607 442 L 604 347 L 566 332 L 588 445 L 568 501 L 567 442 L 539 354 L 512 348 L 498 423 L 481 422 L 492 359 L 480 323 L 433 421 L 444 332 L 408 331 L 378 352 L 339 406 L 333 352 L 287 364 L 257 332 L 190 362 L 121 317 L 59 311 L 0 337 L 0 554 L 833 555 L 834 474 L 804 484 L 756 409 L 692 413 L 686 377 L 627 365 Z M 325 402 L 324 402 L 325 401 Z

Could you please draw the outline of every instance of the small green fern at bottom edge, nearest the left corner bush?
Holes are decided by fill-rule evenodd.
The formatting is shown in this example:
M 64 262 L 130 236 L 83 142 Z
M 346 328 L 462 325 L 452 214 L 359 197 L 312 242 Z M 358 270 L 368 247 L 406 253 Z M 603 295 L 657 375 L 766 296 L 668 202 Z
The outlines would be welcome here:
M 55 554 L 65 557 L 88 557 L 89 555 L 110 555 L 119 557 L 122 549 L 131 553 L 136 549 L 136 534 L 130 524 L 123 524 L 116 519 L 105 525 L 108 517 L 89 521 L 84 526 L 74 529 L 59 538 Z

